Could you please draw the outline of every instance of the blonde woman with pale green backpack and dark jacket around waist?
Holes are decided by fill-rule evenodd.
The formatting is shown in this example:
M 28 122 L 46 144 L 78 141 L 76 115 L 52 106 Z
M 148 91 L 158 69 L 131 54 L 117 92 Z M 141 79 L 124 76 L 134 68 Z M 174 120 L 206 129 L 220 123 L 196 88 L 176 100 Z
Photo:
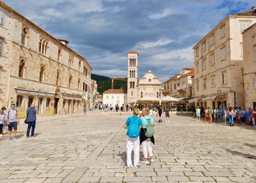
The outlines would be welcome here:
M 148 155 L 149 161 L 152 163 L 153 160 L 153 151 L 151 147 L 151 142 L 155 145 L 154 133 L 155 133 L 155 123 L 154 120 L 149 114 L 149 109 L 145 108 L 140 113 L 141 119 L 141 130 L 140 130 L 140 144 L 142 146 L 144 160 L 141 163 L 148 164 Z

